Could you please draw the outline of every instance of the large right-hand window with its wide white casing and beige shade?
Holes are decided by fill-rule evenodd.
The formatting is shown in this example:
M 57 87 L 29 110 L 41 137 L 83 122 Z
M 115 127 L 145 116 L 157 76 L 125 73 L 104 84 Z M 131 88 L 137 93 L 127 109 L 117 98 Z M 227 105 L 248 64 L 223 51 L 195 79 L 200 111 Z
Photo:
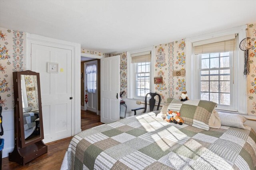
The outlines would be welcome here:
M 212 99 L 218 103 L 216 109 L 229 113 L 247 114 L 248 96 L 247 80 L 244 76 L 244 51 L 239 50 L 239 42 L 246 36 L 246 28 L 247 25 L 242 25 L 185 40 L 186 91 L 191 99 Z M 205 60 L 202 61 L 202 59 Z M 216 63 L 212 63 L 214 61 Z M 217 86 L 216 90 L 210 89 L 210 86 L 214 84 L 218 84 L 219 87 Z M 221 87 L 222 84 L 225 84 L 225 88 Z

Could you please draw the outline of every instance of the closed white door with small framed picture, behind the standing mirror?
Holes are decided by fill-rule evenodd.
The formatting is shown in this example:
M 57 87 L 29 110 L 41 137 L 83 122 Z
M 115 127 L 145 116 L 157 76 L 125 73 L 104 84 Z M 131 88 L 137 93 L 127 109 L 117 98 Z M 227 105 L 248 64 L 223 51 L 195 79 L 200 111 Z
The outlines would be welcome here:
M 58 73 L 47 63 L 58 63 Z M 44 143 L 71 136 L 71 50 L 31 45 L 31 70 L 40 73 Z

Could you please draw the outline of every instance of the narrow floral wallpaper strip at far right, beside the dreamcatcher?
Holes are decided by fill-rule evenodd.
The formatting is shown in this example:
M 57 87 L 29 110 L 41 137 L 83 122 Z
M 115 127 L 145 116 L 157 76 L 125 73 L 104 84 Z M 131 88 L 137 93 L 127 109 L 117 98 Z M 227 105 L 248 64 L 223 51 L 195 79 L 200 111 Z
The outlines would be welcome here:
M 252 48 L 249 49 L 250 74 L 248 78 L 248 114 L 256 115 L 256 23 L 248 24 L 248 37 Z

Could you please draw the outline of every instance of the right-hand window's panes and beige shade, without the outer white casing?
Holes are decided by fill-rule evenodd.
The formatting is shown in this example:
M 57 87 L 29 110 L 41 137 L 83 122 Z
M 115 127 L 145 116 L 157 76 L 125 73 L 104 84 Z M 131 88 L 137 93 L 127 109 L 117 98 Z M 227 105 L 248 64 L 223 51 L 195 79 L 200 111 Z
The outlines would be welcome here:
M 235 34 L 193 43 L 198 54 L 198 98 L 218 104 L 218 109 L 234 110 L 232 54 Z

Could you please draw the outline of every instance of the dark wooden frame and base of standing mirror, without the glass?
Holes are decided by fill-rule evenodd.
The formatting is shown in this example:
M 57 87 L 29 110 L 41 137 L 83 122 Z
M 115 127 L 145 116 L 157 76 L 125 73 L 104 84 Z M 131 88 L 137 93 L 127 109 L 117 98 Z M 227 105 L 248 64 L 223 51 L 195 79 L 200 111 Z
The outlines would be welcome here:
M 43 116 L 42 116 L 42 102 L 40 89 L 39 73 L 30 70 L 13 72 L 13 86 L 14 86 L 14 150 L 9 153 L 9 160 L 25 165 L 27 162 L 37 158 L 38 156 L 47 152 L 48 148 L 42 141 L 44 139 Z M 24 135 L 24 120 L 22 107 L 22 92 L 21 92 L 21 75 L 35 75 L 37 76 L 38 88 L 38 111 L 40 124 L 40 137 L 25 143 Z

